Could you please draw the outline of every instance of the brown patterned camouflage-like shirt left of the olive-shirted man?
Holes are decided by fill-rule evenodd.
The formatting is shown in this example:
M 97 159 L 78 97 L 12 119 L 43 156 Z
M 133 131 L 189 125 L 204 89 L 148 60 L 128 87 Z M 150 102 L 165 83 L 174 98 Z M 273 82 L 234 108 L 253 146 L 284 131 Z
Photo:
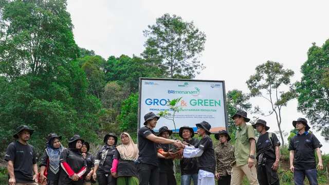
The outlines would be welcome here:
M 220 176 L 231 175 L 232 162 L 234 161 L 234 146 L 229 142 L 218 144 L 215 148 L 216 173 Z

